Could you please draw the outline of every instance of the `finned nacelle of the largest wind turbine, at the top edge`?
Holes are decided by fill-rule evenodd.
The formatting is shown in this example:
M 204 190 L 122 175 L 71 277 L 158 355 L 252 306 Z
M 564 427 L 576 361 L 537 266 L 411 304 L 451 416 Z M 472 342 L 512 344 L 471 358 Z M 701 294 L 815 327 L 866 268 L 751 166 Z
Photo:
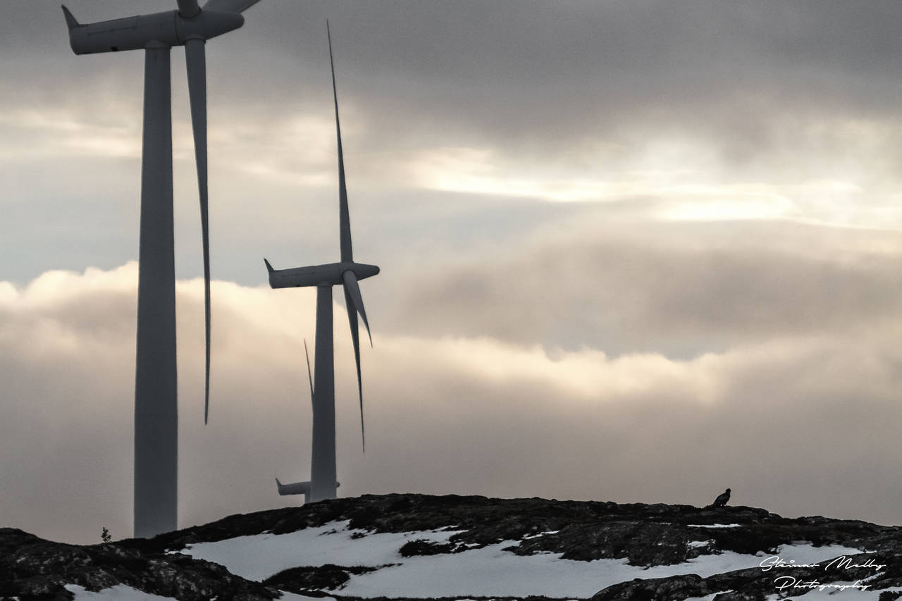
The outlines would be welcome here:
M 76 54 L 143 50 L 149 45 L 181 46 L 189 40 L 209 40 L 244 25 L 240 13 L 200 10 L 190 18 L 179 11 L 81 24 L 62 7 L 69 26 L 69 45 Z

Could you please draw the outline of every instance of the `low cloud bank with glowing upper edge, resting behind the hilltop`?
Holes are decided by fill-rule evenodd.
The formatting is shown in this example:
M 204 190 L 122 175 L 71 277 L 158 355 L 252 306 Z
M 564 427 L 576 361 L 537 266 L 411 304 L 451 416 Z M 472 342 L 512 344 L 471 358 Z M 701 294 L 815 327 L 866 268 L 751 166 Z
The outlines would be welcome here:
M 0 286 L 6 525 L 69 541 L 130 533 L 135 278 L 126 264 Z M 272 478 L 308 477 L 308 292 L 214 283 L 204 427 L 202 283 L 179 282 L 180 523 L 296 503 Z M 883 502 L 902 459 L 897 321 L 682 360 L 377 327 L 362 455 L 336 315 L 342 495 L 704 504 L 730 485 L 737 503 L 773 511 L 899 519 Z

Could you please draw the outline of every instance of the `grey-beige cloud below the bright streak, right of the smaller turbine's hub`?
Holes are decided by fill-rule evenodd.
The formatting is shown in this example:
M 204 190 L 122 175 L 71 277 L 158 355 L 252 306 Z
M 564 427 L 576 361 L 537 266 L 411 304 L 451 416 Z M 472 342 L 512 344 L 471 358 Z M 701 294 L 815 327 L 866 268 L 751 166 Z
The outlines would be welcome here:
M 845 332 L 902 310 L 902 240 L 891 231 L 642 223 L 602 208 L 538 232 L 387 272 L 392 299 L 373 286 L 375 314 L 426 337 L 685 357 Z

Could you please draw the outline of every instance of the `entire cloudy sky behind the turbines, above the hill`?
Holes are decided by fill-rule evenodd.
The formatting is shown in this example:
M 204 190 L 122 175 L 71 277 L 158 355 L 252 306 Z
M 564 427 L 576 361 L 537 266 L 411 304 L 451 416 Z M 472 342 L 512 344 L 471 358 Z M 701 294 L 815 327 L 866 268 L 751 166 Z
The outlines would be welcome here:
M 89 23 L 174 8 L 69 0 Z M 0 522 L 132 532 L 143 57 L 0 22 Z M 213 358 L 172 51 L 179 525 L 299 504 L 315 292 L 343 496 L 704 505 L 902 523 L 902 8 L 864 0 L 261 0 L 207 43 Z M 312 347 L 312 345 L 311 345 Z

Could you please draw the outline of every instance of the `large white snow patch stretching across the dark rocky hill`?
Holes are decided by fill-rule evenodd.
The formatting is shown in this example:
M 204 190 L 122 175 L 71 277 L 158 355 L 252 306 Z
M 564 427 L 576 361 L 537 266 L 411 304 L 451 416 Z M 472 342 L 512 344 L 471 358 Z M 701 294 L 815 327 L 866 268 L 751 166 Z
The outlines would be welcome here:
M 445 542 L 455 532 L 380 532 L 347 528 L 332 522 L 289 534 L 257 534 L 227 541 L 190 545 L 182 552 L 224 565 L 232 573 L 262 580 L 283 569 L 333 563 L 339 566 L 386 566 L 352 575 L 342 596 L 593 596 L 599 590 L 633 578 L 666 578 L 676 574 L 712 576 L 759 566 L 761 558 L 725 551 L 703 555 L 675 566 L 642 568 L 626 559 L 576 561 L 559 553 L 520 556 L 503 550 L 519 541 L 504 541 L 459 553 L 401 557 L 407 541 Z M 705 526 L 710 527 L 710 526 Z M 352 538 L 356 535 L 358 538 Z M 810 543 L 783 545 L 781 559 L 815 563 L 861 550 Z M 391 565 L 390 565 L 391 564 Z

